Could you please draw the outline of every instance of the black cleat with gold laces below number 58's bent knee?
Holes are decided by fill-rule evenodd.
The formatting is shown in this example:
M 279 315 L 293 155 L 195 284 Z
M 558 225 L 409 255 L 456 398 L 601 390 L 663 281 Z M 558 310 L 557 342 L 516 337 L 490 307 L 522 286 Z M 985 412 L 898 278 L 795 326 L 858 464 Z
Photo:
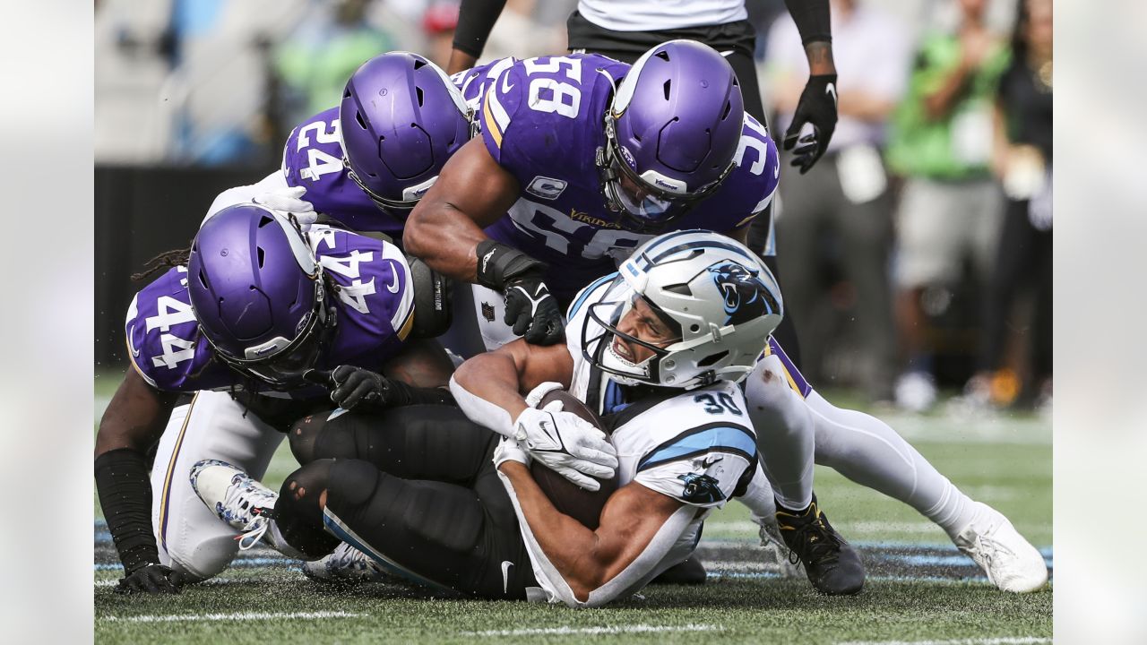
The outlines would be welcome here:
M 857 593 L 864 586 L 864 565 L 860 555 L 828 523 L 828 518 L 817 506 L 817 496 L 804 511 L 793 513 L 777 505 L 777 523 L 789 547 L 790 558 L 804 564 L 812 586 L 829 596 Z M 793 560 L 796 564 L 796 560 Z

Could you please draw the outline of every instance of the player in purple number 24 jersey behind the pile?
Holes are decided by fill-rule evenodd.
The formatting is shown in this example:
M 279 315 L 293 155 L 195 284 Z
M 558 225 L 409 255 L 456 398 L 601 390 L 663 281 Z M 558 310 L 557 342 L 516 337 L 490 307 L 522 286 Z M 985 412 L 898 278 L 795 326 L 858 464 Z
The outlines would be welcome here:
M 280 170 L 225 191 L 208 217 L 253 197 L 301 216 L 322 213 L 353 231 L 381 232 L 400 246 L 407 213 L 470 139 L 473 106 L 485 72 L 497 71 L 491 67 L 458 75 L 455 86 L 418 54 L 370 59 L 351 75 L 338 106 L 291 131 Z

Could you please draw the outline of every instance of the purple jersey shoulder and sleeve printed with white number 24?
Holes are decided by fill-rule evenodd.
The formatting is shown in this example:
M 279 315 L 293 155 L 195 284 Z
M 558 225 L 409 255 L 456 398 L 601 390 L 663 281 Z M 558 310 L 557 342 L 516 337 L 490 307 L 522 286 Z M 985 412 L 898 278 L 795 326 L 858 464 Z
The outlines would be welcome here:
M 382 212 L 343 166 L 338 108 L 323 110 L 291 131 L 283 147 L 288 186 L 306 188 L 314 210 L 356 231 L 382 231 L 399 239 L 403 223 Z

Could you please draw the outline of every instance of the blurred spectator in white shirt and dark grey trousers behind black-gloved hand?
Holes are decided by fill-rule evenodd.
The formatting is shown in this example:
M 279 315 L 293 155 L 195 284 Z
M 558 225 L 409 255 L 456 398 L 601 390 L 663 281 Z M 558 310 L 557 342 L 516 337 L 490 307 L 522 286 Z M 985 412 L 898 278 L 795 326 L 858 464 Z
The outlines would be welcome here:
M 892 204 L 881 153 L 884 124 L 904 93 L 908 39 L 904 26 L 863 0 L 833 0 L 833 53 L 840 69 L 840 121 L 824 160 L 809 179 L 780 184 L 777 258 L 785 275 L 785 304 L 802 321 L 802 368 L 825 382 L 827 333 L 814 311 L 824 300 L 817 261 L 835 242 L 855 297 L 852 320 L 863 343 L 861 382 L 873 401 L 892 399 L 895 337 L 888 277 Z M 796 25 L 780 17 L 768 33 L 771 99 L 783 130 L 809 77 Z M 817 331 L 822 334 L 817 335 Z

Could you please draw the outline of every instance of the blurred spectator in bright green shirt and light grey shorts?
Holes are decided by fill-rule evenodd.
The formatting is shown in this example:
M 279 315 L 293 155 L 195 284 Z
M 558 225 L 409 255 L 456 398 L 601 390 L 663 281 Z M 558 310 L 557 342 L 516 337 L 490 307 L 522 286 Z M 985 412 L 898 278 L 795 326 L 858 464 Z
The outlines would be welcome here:
M 927 33 L 908 94 L 892 119 L 888 162 L 906 176 L 897 218 L 896 312 L 906 357 L 897 404 L 923 411 L 936 399 L 926 287 L 954 285 L 970 256 L 986 283 L 1002 196 L 992 178 L 992 101 L 1008 48 L 984 23 L 986 0 L 959 2 L 954 33 Z

